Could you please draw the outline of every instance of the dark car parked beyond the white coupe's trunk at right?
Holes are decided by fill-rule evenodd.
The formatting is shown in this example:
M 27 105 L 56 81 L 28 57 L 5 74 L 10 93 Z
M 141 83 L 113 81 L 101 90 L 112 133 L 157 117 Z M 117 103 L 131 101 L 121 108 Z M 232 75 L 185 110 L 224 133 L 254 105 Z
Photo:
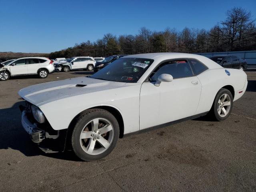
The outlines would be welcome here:
M 246 70 L 247 68 L 247 62 L 245 59 L 240 59 L 233 55 L 218 55 L 210 57 L 210 59 L 224 68 L 234 68 L 240 70 Z

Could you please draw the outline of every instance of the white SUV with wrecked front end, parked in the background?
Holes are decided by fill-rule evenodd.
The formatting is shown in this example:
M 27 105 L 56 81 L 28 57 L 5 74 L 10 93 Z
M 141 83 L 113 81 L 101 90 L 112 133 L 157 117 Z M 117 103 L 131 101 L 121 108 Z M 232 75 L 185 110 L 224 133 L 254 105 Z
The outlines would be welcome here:
M 92 71 L 96 61 L 93 57 L 72 57 L 66 62 L 55 64 L 56 71 L 68 72 L 70 70 L 84 69 Z

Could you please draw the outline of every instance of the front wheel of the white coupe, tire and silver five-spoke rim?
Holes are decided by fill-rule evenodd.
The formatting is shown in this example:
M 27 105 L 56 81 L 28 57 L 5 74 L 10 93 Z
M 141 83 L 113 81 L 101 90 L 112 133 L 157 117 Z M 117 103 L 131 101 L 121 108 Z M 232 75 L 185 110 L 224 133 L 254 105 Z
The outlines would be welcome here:
M 90 109 L 75 120 L 72 148 L 76 156 L 84 161 L 99 160 L 112 152 L 118 137 L 116 118 L 106 110 Z

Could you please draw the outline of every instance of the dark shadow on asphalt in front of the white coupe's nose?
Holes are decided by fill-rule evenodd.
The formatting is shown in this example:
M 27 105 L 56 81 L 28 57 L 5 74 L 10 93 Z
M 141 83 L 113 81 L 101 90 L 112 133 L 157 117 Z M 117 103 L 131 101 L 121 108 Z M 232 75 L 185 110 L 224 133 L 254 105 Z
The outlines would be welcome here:
M 10 108 L 0 109 L 0 149 L 18 150 L 25 156 L 42 155 L 62 160 L 81 161 L 72 151 L 52 154 L 42 152 L 37 144 L 30 140 L 22 127 L 20 105 L 25 105 L 25 102 L 22 100 L 16 102 Z

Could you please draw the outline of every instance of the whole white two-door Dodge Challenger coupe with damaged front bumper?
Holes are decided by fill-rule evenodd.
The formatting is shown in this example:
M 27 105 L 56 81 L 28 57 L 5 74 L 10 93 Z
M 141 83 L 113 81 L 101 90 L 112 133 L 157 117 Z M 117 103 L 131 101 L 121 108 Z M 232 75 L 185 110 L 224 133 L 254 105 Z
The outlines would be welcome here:
M 225 120 L 247 87 L 242 70 L 195 54 L 124 56 L 90 77 L 24 88 L 22 126 L 44 152 L 107 156 L 125 134 L 209 114 Z

